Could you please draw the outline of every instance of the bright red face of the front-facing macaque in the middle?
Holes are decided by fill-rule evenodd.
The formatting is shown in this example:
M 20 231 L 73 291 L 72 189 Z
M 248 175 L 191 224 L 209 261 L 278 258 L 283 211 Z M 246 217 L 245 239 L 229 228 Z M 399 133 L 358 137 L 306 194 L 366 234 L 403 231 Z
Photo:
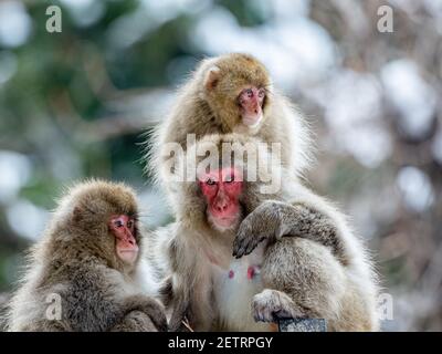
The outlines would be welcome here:
M 235 227 L 240 219 L 243 188 L 240 176 L 236 169 L 229 167 L 207 173 L 199 178 L 208 205 L 208 218 L 221 231 Z

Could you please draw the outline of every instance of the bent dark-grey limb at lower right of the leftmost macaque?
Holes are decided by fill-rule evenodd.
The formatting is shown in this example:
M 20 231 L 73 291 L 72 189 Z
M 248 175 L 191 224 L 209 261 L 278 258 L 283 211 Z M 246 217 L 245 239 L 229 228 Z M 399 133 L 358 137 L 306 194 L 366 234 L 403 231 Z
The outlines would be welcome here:
M 125 316 L 131 312 L 143 312 L 150 319 L 158 331 L 167 331 L 165 309 L 158 301 L 146 295 L 133 295 L 126 298 L 123 305 Z

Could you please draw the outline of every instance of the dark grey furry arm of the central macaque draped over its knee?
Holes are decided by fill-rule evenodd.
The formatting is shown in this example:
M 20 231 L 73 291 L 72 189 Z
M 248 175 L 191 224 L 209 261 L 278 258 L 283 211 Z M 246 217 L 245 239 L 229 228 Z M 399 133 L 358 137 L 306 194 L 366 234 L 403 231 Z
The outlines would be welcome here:
M 336 222 L 316 208 L 303 202 L 266 200 L 240 225 L 233 242 L 233 256 L 251 253 L 263 240 L 302 237 L 329 247 L 339 260 L 345 260 L 343 240 Z

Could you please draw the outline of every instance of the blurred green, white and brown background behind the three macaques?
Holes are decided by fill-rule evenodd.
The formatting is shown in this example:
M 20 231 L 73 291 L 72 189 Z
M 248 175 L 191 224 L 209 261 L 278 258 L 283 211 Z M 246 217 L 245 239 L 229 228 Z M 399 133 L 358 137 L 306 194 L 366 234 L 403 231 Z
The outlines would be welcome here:
M 65 184 L 124 180 L 149 227 L 172 220 L 143 173 L 146 132 L 199 60 L 231 51 L 305 113 L 311 184 L 352 218 L 392 295 L 383 329 L 441 331 L 442 0 L 0 0 L 0 293 Z

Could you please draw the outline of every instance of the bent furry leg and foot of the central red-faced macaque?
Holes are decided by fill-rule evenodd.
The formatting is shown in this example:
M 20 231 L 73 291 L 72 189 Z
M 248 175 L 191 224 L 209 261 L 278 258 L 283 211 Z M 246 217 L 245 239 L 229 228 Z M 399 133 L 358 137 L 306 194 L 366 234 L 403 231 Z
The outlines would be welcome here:
M 347 288 L 343 266 L 329 249 L 302 238 L 284 238 L 266 250 L 264 290 L 253 296 L 257 321 L 282 317 L 335 320 Z

